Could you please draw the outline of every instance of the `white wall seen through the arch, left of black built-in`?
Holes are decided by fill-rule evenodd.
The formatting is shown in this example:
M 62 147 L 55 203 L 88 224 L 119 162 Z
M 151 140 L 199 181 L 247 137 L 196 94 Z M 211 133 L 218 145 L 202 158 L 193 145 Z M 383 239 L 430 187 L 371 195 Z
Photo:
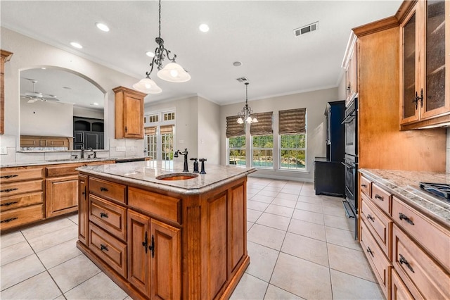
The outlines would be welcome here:
M 20 99 L 20 132 L 22 135 L 72 137 L 73 105 Z

